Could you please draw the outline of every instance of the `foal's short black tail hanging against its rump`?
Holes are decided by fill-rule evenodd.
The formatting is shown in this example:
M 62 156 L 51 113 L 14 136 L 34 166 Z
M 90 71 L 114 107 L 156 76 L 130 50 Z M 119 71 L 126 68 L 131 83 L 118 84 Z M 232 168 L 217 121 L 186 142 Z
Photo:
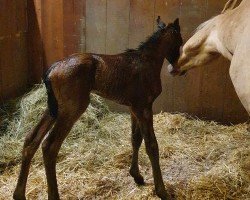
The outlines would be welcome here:
M 51 70 L 53 69 L 53 66 L 46 72 L 46 74 L 43 77 L 43 82 L 47 89 L 47 95 L 48 95 L 48 107 L 51 117 L 56 118 L 58 114 L 58 103 L 52 88 L 51 80 L 49 78 L 49 74 Z

